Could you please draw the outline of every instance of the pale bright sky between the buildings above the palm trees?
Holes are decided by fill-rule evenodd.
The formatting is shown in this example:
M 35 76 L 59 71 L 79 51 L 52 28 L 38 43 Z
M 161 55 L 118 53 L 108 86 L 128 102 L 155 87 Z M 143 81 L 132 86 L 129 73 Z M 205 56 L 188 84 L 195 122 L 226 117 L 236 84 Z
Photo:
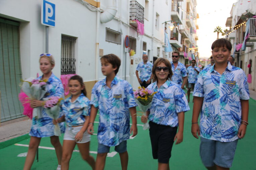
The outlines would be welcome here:
M 200 58 L 209 58 L 212 55 L 211 46 L 217 39 L 217 33 L 213 32 L 214 28 L 221 26 L 222 30 L 226 28 L 229 30 L 225 24 L 235 2 L 237 0 L 197 0 L 196 9 L 199 14 L 197 45 Z M 223 38 L 223 36 L 219 34 L 219 38 Z

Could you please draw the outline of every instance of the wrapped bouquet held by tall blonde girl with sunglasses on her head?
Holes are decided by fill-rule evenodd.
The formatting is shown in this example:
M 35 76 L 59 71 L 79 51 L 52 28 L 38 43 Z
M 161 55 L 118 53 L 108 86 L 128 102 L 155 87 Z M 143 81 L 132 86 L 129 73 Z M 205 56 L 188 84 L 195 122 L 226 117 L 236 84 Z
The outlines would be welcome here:
M 47 80 L 38 80 L 34 78 L 29 78 L 22 83 L 22 91 L 27 94 L 30 100 L 40 100 L 46 93 L 46 82 Z M 41 118 L 41 108 L 33 108 L 33 116 L 36 119 Z

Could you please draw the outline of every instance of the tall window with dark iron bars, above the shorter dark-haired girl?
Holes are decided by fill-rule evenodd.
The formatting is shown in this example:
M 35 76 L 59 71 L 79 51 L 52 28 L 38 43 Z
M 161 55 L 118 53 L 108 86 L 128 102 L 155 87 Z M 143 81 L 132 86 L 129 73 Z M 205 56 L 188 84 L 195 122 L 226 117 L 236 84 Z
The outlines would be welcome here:
M 76 38 L 61 36 L 61 75 L 76 74 Z

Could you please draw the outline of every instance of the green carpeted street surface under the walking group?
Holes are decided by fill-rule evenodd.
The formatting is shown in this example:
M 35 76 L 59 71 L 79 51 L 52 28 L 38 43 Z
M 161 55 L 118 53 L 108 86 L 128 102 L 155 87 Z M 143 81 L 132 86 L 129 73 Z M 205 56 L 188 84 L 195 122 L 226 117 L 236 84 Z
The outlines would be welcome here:
M 190 96 L 191 97 L 191 96 Z M 193 102 L 190 99 L 190 110 L 185 113 L 184 122 L 184 138 L 183 142 L 173 145 L 172 156 L 170 158 L 170 169 L 172 170 L 203 170 L 205 169 L 200 156 L 199 145 L 200 140 L 191 134 L 191 117 Z M 233 167 L 231 170 L 256 170 L 255 153 L 256 153 L 256 101 L 249 100 L 249 125 L 245 138 L 238 141 Z M 148 130 L 142 129 L 140 117 L 138 120 L 138 134 L 127 142 L 127 150 L 129 154 L 128 170 L 156 170 L 157 160 L 153 160 L 151 154 L 151 144 Z M 96 118 L 98 121 L 98 115 Z M 97 125 L 95 123 L 95 133 L 97 133 Z M 11 130 L 11 129 L 10 129 Z M 63 134 L 60 137 L 61 143 Z M 0 169 L 1 170 L 20 170 L 23 169 L 25 155 L 28 150 L 29 136 L 23 135 L 0 143 Z M 31 170 L 55 170 L 57 167 L 57 159 L 53 146 L 50 144 L 50 138 L 42 138 L 39 148 L 39 161 L 34 161 Z M 87 162 L 83 161 L 76 146 L 73 152 L 70 169 L 90 169 Z M 91 155 L 96 158 L 97 153 L 97 136 L 92 135 L 90 144 Z M 111 154 L 106 159 L 106 170 L 121 170 L 120 158 L 118 153 L 114 151 L 114 147 L 110 150 Z

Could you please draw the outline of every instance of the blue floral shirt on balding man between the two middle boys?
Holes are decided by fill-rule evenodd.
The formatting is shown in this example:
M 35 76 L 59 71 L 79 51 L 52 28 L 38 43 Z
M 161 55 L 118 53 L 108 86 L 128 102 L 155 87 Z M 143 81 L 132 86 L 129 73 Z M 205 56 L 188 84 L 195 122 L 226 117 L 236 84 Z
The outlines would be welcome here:
M 136 68 L 137 71 L 140 72 L 140 80 L 143 81 L 147 81 L 150 79 L 151 74 L 152 74 L 152 63 L 147 62 L 146 64 L 144 64 L 144 62 L 140 62 Z

